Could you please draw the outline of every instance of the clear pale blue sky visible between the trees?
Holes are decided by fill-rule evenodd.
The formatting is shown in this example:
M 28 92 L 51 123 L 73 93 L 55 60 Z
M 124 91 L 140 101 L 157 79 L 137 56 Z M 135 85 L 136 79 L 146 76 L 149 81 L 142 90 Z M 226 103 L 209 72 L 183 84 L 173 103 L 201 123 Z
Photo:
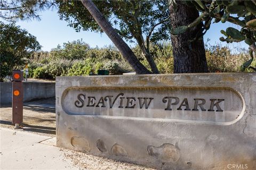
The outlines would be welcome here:
M 41 21 L 18 21 L 17 25 L 20 25 L 22 29 L 26 29 L 29 33 L 36 36 L 39 43 L 43 46 L 42 50 L 50 51 L 59 44 L 62 45 L 68 41 L 74 41 L 81 38 L 91 47 L 103 47 L 113 44 L 105 33 L 94 33 L 90 31 L 76 32 L 73 28 L 67 26 L 66 21 L 61 21 L 59 19 L 57 10 L 44 11 L 40 13 L 40 15 Z M 214 23 L 211 25 L 210 30 L 206 32 L 204 41 L 206 42 L 207 38 L 209 38 L 210 41 L 208 43 L 211 45 L 221 43 L 223 46 L 227 46 L 227 43 L 222 43 L 219 38 L 222 37 L 220 30 L 226 30 L 228 27 L 239 29 L 237 25 L 228 22 L 225 24 L 221 22 Z M 134 46 L 134 44 L 127 44 Z M 236 52 L 236 49 L 248 48 L 244 42 L 232 43 L 228 44 L 228 46 L 233 52 Z

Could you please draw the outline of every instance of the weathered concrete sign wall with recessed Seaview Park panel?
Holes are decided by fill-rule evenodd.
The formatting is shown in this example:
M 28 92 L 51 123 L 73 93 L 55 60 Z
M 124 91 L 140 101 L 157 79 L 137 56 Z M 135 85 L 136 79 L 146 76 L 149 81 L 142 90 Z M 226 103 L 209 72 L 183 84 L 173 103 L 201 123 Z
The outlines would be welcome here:
M 56 113 L 59 147 L 159 169 L 256 168 L 255 73 L 58 77 Z

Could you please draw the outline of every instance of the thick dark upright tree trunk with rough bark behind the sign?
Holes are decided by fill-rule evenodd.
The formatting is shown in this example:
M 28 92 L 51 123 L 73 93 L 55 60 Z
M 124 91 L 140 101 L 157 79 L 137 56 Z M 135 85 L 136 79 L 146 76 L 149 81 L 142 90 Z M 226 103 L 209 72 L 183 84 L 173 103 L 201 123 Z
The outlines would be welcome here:
M 176 1 L 177 11 L 173 5 L 169 7 L 171 16 L 172 28 L 177 28 L 182 25 L 188 25 L 193 22 L 198 16 L 196 8 L 182 4 L 181 1 Z M 202 24 L 198 24 L 196 28 L 192 28 L 180 35 L 171 35 L 173 56 L 174 56 L 174 73 L 202 73 L 208 72 L 204 41 L 189 40 L 195 38 L 196 33 L 201 31 Z

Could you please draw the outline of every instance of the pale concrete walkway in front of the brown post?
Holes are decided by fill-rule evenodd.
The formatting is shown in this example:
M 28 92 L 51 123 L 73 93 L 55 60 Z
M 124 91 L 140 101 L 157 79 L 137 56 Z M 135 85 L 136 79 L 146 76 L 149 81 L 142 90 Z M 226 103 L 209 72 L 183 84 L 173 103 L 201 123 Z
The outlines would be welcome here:
M 0 133 L 0 169 L 78 169 L 53 146 L 54 138 L 5 128 Z

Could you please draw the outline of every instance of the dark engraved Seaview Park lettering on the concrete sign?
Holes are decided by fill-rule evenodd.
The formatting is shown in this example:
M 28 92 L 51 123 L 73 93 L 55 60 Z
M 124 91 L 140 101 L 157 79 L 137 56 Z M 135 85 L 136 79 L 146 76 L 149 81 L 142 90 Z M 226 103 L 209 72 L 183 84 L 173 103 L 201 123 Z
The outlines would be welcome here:
M 117 96 L 105 96 L 96 98 L 94 96 L 87 96 L 85 94 L 78 94 L 77 100 L 75 101 L 75 106 L 78 108 L 81 107 L 109 107 L 112 108 L 118 100 L 118 108 L 135 108 L 139 107 L 140 109 L 148 109 L 150 104 L 153 102 L 153 97 L 124 97 L 124 93 L 119 93 Z M 86 101 L 87 100 L 87 101 Z M 181 103 L 180 103 L 181 101 Z M 194 105 L 192 106 L 192 111 L 211 111 L 211 112 L 223 112 L 223 109 L 220 107 L 220 103 L 224 99 L 209 99 L 205 100 L 203 98 L 194 98 Z M 165 103 L 165 111 L 172 111 L 172 106 L 179 106 L 177 110 L 191 111 L 189 106 L 188 99 L 183 98 L 180 100 L 179 97 L 166 96 L 163 97 L 162 102 Z M 210 103 L 209 108 L 205 108 L 206 102 Z M 199 107 L 198 107 L 199 106 Z M 215 106 L 215 107 L 214 107 Z

